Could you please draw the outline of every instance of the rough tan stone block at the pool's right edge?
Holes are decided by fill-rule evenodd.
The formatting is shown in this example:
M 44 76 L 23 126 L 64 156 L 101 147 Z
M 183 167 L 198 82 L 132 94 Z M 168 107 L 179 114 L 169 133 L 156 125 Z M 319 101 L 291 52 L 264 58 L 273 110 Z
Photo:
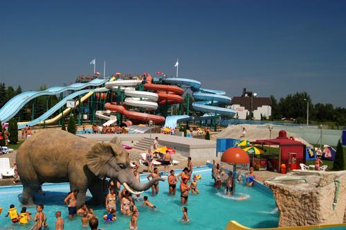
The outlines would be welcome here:
M 340 189 L 333 210 L 336 179 Z M 346 171 L 294 170 L 264 184 L 273 191 L 280 212 L 279 227 L 346 222 Z

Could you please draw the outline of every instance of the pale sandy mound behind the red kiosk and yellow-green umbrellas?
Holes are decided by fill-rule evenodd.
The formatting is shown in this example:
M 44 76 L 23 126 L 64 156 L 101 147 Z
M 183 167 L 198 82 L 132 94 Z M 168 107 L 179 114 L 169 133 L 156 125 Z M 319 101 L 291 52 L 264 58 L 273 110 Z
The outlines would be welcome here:
M 246 135 L 245 137 L 242 136 L 243 127 L 246 129 Z M 219 134 L 213 135 L 213 138 L 230 138 L 230 139 L 246 139 L 248 141 L 256 141 L 261 139 L 275 139 L 277 136 L 279 136 L 280 130 L 271 130 L 269 132 L 268 127 L 266 125 L 262 125 L 260 128 L 260 125 L 230 125 L 230 127 L 227 127 L 222 132 L 219 132 Z M 304 143 L 305 145 L 310 146 L 310 144 L 307 141 L 304 141 L 304 139 L 300 138 L 300 136 L 297 136 L 295 134 L 292 134 L 291 132 L 287 132 L 287 137 L 293 136 L 296 141 L 300 141 Z

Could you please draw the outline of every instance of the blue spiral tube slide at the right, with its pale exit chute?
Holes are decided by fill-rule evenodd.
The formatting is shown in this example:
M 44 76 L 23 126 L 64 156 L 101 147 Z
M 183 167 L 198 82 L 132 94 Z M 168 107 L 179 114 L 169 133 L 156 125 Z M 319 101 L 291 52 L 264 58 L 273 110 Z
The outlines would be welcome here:
M 236 112 L 233 109 L 227 109 L 224 105 L 230 105 L 231 98 L 225 96 L 225 91 L 213 89 L 201 89 L 201 82 L 188 78 L 164 78 L 163 82 L 173 85 L 187 85 L 192 90 L 194 103 L 192 107 L 196 111 L 204 112 L 201 119 L 208 119 L 211 116 L 226 116 L 233 117 Z M 186 115 L 167 117 L 165 123 L 166 127 L 176 127 L 178 121 L 185 121 L 188 119 Z M 190 119 L 192 120 L 192 118 Z

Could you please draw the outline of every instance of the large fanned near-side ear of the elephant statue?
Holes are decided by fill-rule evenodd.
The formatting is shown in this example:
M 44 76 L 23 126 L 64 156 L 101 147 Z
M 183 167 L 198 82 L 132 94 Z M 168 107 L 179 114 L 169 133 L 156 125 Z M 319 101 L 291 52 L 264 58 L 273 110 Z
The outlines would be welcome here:
M 96 176 L 103 179 L 107 173 L 107 163 L 113 158 L 122 159 L 124 150 L 121 145 L 113 143 L 96 143 L 86 154 L 86 165 Z

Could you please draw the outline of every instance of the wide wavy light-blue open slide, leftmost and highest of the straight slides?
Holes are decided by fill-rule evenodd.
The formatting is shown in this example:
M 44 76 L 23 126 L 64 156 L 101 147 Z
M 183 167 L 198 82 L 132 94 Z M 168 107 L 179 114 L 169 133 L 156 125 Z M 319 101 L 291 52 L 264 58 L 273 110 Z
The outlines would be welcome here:
M 15 116 L 19 112 L 19 110 L 24 107 L 24 105 L 26 105 L 26 103 L 28 103 L 30 100 L 33 100 L 33 98 L 37 98 L 38 96 L 56 95 L 67 90 L 77 91 L 84 89 L 85 87 L 97 87 L 103 85 L 107 81 L 107 79 L 96 78 L 87 83 L 74 83 L 66 87 L 51 87 L 44 91 L 26 91 L 13 97 L 8 101 L 8 103 L 3 105 L 3 107 L 0 109 L 0 121 L 9 121 L 10 118 Z

